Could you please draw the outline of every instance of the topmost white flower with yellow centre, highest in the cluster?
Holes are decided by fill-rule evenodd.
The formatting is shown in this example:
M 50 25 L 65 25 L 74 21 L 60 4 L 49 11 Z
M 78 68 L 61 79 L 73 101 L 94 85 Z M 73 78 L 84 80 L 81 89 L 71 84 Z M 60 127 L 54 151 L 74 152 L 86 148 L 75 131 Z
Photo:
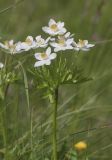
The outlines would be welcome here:
M 66 32 L 66 29 L 64 28 L 64 22 L 55 22 L 55 20 L 50 19 L 49 23 L 48 23 L 48 27 L 42 27 L 42 30 L 45 33 L 48 33 L 52 36 L 55 35 L 61 35 L 64 34 Z

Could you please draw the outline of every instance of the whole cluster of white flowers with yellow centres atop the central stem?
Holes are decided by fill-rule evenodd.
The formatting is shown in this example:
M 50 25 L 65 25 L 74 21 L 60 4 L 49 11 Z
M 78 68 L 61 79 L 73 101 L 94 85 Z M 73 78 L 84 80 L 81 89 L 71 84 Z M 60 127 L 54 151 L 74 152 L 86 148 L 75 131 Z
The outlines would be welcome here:
M 13 40 L 0 43 L 0 48 L 10 54 L 22 53 L 31 49 L 44 48 L 43 51 L 35 53 L 37 62 L 34 67 L 42 65 L 50 65 L 51 60 L 56 58 L 56 53 L 65 50 L 88 51 L 94 44 L 89 44 L 88 40 L 74 40 L 74 35 L 67 32 L 64 22 L 56 22 L 50 19 L 48 26 L 42 27 L 42 30 L 49 35 L 47 39 L 43 39 L 41 35 L 33 38 L 28 36 L 24 42 L 14 43 Z M 52 53 L 53 52 L 53 53 Z

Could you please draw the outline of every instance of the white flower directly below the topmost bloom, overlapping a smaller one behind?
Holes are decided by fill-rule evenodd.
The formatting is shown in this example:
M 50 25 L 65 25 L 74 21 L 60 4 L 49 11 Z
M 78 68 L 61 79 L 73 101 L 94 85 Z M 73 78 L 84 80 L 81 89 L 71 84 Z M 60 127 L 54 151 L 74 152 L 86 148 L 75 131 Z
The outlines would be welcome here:
M 73 49 L 72 43 L 74 39 L 71 37 L 70 32 L 66 33 L 65 35 L 58 36 L 58 39 L 54 42 L 51 42 L 51 46 L 54 47 L 54 51 L 64 51 L 67 49 Z

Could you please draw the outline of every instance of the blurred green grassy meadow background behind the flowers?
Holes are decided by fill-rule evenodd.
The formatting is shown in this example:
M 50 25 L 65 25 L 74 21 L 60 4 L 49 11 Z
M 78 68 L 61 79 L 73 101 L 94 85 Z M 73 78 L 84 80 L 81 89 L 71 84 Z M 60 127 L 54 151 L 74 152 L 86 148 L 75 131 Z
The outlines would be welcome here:
M 112 0 L 0 0 L 0 39 L 24 41 L 28 35 L 46 35 L 50 18 L 64 21 L 76 41 L 96 46 L 80 53 L 77 65 L 94 80 L 59 89 L 58 146 L 60 160 L 74 143 L 85 140 L 90 160 L 112 157 Z M 4 61 L 4 53 L 0 53 Z M 69 57 L 68 57 L 69 58 Z M 26 59 L 26 70 L 34 62 Z M 74 59 L 75 63 L 75 59 Z M 23 78 L 23 74 L 20 74 Z M 32 77 L 27 73 L 30 84 Z M 9 160 L 44 160 L 51 152 L 51 108 L 40 91 L 30 87 L 32 131 L 24 84 L 9 88 L 6 101 L 6 137 Z M 2 128 L 2 127 L 1 127 Z M 0 128 L 0 157 L 4 156 Z M 31 138 L 32 132 L 32 138 Z M 30 148 L 32 141 L 32 150 Z M 32 155 L 31 155 L 32 154 Z M 37 158 L 38 157 L 38 158 Z

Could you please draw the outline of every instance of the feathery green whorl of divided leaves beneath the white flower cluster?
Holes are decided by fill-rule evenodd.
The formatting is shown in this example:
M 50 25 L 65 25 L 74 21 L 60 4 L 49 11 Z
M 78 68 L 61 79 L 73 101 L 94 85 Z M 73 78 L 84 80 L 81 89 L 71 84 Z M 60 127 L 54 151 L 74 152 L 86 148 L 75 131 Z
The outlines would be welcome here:
M 29 72 L 34 76 L 37 90 L 43 90 L 42 98 L 48 98 L 50 102 L 53 92 L 60 85 L 81 84 L 92 80 L 91 77 L 84 75 L 83 69 L 74 64 L 68 65 L 66 58 L 62 60 L 61 57 L 50 66 L 42 66 Z

